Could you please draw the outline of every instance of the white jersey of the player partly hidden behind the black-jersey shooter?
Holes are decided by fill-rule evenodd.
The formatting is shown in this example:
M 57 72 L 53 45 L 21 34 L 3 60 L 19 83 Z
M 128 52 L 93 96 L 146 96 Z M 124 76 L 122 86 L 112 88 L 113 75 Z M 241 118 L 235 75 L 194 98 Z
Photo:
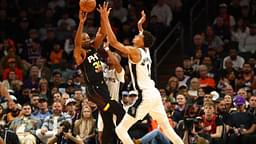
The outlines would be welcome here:
M 108 90 L 112 99 L 119 101 L 120 82 L 124 83 L 124 69 L 120 73 L 115 69 L 109 69 L 106 64 L 103 64 L 103 76 L 108 86 Z

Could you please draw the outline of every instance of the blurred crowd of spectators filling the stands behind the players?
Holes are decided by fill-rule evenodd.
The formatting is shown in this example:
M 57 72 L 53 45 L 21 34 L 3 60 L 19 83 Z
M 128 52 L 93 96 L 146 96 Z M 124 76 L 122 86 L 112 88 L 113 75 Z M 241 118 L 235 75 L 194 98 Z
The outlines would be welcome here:
M 159 43 L 184 1 L 110 0 L 112 29 L 131 44 L 145 10 L 145 29 Z M 218 15 L 205 32 L 194 35 L 187 57 L 159 91 L 170 124 L 185 143 L 254 144 L 256 1 L 217 3 Z M 57 143 L 100 143 L 97 106 L 86 98 L 73 60 L 78 10 L 79 0 L 0 0 L 0 78 L 13 99 L 0 99 L 0 143 L 51 143 L 63 135 Z M 93 37 L 98 25 L 95 11 L 84 31 Z M 119 102 L 126 109 L 138 94 L 131 89 L 127 59 L 121 64 L 126 75 Z M 153 129 L 161 131 L 147 116 L 129 134 L 143 143 Z M 155 138 L 151 143 L 163 143 L 149 137 Z

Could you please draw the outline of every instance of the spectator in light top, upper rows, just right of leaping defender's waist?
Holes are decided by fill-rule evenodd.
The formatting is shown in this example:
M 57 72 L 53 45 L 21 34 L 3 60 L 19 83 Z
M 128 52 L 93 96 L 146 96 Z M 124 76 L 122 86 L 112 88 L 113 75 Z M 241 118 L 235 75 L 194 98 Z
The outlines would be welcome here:
M 180 66 L 175 68 L 175 76 L 179 80 L 179 86 L 187 86 L 188 80 L 190 79 L 190 76 L 184 75 L 184 69 Z

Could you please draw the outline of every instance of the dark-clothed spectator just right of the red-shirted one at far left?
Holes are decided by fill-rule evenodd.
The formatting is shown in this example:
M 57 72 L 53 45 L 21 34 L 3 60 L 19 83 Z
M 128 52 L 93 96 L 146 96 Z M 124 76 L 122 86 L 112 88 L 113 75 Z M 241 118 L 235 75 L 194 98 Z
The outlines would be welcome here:
M 29 89 L 37 89 L 39 86 L 39 80 L 39 68 L 38 66 L 33 65 L 29 71 L 29 78 L 24 81 L 24 87 Z

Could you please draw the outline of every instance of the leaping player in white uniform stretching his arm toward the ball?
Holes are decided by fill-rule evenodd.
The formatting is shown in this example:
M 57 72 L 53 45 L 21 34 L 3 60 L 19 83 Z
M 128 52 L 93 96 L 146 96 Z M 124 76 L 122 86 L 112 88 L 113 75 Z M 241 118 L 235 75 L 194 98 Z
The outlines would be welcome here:
M 170 126 L 160 93 L 156 89 L 154 81 L 150 78 L 152 61 L 149 47 L 153 45 L 154 37 L 149 32 L 143 31 L 142 24 L 146 20 L 145 13 L 142 11 L 142 17 L 138 22 L 140 33 L 134 37 L 133 46 L 124 46 L 117 41 L 111 29 L 108 19 L 110 12 L 108 4 L 104 3 L 103 7 L 100 6 L 98 11 L 101 13 L 101 20 L 106 26 L 110 45 L 128 55 L 130 72 L 133 75 L 133 86 L 140 93 L 136 103 L 129 108 L 121 123 L 116 127 L 116 134 L 124 144 L 133 144 L 132 139 L 128 135 L 128 129 L 149 113 L 153 119 L 157 120 L 163 133 L 172 143 L 183 144 L 181 138 Z

